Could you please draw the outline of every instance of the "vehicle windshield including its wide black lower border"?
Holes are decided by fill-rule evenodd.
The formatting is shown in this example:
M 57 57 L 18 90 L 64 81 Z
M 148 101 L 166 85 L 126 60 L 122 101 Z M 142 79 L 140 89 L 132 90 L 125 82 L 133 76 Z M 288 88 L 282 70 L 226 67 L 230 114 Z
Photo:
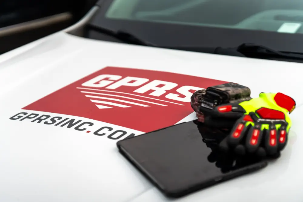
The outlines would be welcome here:
M 93 27 L 126 30 L 161 47 L 255 43 L 303 53 L 302 0 L 107 0 Z M 117 41 L 89 31 L 88 38 Z

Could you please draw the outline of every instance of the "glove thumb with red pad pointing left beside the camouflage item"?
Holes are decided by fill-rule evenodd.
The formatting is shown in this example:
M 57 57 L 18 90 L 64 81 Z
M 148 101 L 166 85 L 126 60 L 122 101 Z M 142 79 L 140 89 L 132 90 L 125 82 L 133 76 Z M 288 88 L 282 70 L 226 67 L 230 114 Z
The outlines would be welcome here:
M 246 112 L 239 104 L 221 104 L 212 110 L 200 108 L 200 111 L 214 118 L 234 118 L 238 119 Z

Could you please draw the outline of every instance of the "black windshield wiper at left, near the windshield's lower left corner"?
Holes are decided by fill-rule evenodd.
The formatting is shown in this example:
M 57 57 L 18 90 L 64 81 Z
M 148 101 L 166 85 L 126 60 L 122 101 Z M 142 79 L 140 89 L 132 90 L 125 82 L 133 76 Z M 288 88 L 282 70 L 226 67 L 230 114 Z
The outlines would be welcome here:
M 125 42 L 128 44 L 158 47 L 157 45 L 150 43 L 148 41 L 145 41 L 124 29 L 118 29 L 117 31 L 115 31 L 115 30 L 110 30 L 110 29 L 101 28 L 101 27 L 97 27 L 97 26 L 90 26 L 90 28 L 92 28 L 102 34 L 114 37 L 114 38 L 118 39 L 119 41 L 122 41 L 122 42 Z

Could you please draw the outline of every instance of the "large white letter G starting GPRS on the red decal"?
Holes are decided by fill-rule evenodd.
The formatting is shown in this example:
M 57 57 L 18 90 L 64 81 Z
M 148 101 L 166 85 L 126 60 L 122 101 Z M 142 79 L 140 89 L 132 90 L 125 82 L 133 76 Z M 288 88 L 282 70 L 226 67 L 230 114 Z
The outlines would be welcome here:
M 103 80 L 105 78 L 108 78 L 108 80 Z M 122 76 L 118 76 L 118 75 L 99 75 L 89 81 L 86 81 L 85 83 L 82 84 L 82 86 L 86 86 L 86 87 L 95 87 L 95 88 L 102 88 L 105 87 L 111 83 L 113 83 L 114 81 L 119 80 L 120 78 L 122 78 Z

